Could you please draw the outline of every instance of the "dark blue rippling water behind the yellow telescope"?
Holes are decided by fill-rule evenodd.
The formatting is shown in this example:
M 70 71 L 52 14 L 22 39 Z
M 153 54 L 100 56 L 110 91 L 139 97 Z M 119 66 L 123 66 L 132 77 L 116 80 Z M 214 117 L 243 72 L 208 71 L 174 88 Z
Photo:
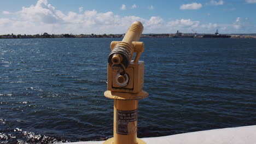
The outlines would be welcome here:
M 113 136 L 107 57 L 117 38 L 0 39 L 0 142 Z M 141 38 L 138 137 L 256 124 L 255 39 Z

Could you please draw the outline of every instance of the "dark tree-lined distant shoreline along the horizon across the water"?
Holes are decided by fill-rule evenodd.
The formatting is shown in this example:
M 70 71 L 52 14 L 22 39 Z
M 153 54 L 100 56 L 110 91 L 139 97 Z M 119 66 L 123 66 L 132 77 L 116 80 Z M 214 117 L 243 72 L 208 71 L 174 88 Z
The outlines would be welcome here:
M 184 34 L 179 38 L 202 38 L 204 34 L 194 34 L 188 33 Z M 256 34 L 226 34 L 230 35 L 230 38 L 247 38 L 256 39 Z M 15 35 L 15 34 L 5 34 L 0 35 L 0 39 L 31 39 L 31 38 L 122 38 L 124 34 L 35 34 L 35 35 Z M 141 38 L 174 38 L 173 34 L 142 34 Z

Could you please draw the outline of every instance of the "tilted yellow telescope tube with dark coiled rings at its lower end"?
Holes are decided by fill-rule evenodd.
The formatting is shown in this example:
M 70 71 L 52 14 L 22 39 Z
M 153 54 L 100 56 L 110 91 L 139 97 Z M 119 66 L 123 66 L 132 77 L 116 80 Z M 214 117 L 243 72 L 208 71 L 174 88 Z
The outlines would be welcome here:
M 142 31 L 142 23 L 139 21 L 133 22 L 123 40 L 115 45 L 108 56 L 108 64 L 113 71 L 117 73 L 125 72 L 135 52 L 132 42 L 139 40 Z

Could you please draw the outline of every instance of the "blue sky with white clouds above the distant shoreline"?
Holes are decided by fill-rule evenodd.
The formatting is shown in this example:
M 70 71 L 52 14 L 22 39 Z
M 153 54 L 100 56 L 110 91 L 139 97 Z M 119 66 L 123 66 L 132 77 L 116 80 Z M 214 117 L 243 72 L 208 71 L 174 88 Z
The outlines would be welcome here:
M 3 34 L 256 33 L 256 0 L 0 0 Z M 193 30 L 193 31 L 192 31 Z

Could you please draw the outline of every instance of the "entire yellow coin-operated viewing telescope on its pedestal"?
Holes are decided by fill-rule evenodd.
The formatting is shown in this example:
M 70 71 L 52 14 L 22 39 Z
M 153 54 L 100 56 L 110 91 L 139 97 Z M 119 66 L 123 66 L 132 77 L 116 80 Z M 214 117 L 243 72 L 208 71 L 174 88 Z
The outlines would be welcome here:
M 108 91 L 104 95 L 114 99 L 114 137 L 104 144 L 145 143 L 137 138 L 138 100 L 148 97 L 148 93 L 142 90 L 144 62 L 139 61 L 144 51 L 144 43 L 138 42 L 142 31 L 142 23 L 133 22 L 122 41 L 110 44 Z

